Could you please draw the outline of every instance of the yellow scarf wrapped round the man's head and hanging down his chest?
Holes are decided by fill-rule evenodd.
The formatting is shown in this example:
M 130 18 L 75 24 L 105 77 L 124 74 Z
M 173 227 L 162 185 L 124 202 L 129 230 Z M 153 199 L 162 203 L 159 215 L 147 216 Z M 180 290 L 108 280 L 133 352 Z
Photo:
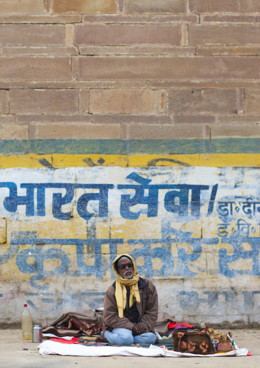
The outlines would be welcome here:
M 134 275 L 131 279 L 123 278 L 116 269 L 116 261 L 121 257 L 129 258 L 134 265 Z M 136 262 L 134 259 L 129 256 L 128 254 L 120 254 L 114 259 L 112 264 L 112 268 L 114 274 L 116 276 L 116 301 L 117 301 L 117 308 L 118 308 L 118 316 L 123 318 L 124 316 L 124 309 L 126 306 L 126 286 L 130 288 L 130 296 L 129 296 L 129 308 L 132 307 L 134 301 L 139 304 L 140 303 L 140 294 L 138 289 L 138 280 L 139 280 L 139 273 L 136 271 Z

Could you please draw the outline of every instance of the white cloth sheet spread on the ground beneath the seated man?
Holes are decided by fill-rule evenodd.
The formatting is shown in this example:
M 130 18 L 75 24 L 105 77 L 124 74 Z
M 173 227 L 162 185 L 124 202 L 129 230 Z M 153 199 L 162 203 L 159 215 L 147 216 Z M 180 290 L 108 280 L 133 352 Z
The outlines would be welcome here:
M 143 356 L 143 357 L 222 357 L 222 356 L 246 356 L 248 350 L 238 349 L 226 354 L 194 355 L 178 353 L 161 347 L 150 345 L 149 349 L 135 346 L 84 346 L 79 344 L 61 344 L 60 342 L 46 340 L 38 345 L 41 355 L 72 355 L 85 357 L 109 357 L 109 356 Z

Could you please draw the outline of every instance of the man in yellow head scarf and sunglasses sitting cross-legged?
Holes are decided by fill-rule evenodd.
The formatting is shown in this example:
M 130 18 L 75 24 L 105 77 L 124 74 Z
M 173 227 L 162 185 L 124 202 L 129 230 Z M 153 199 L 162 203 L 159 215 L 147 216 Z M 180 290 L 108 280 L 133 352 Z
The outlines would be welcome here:
M 104 297 L 103 332 L 96 341 L 114 345 L 154 344 L 154 325 L 158 317 L 158 295 L 155 285 L 136 271 L 128 254 L 113 262 L 116 281 Z

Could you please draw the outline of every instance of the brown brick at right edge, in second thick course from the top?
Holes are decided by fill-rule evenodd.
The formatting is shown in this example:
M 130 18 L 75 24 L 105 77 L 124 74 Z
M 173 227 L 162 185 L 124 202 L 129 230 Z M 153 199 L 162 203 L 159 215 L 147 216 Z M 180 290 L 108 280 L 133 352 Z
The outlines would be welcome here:
M 256 24 L 189 25 L 189 45 L 259 44 L 259 37 L 260 26 Z

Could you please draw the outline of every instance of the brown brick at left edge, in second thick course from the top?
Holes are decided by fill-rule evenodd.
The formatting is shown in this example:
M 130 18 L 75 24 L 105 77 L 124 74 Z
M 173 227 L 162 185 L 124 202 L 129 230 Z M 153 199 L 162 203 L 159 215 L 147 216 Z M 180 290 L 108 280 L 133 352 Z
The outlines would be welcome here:
M 54 24 L 1 24 L 0 45 L 64 45 L 65 28 Z

